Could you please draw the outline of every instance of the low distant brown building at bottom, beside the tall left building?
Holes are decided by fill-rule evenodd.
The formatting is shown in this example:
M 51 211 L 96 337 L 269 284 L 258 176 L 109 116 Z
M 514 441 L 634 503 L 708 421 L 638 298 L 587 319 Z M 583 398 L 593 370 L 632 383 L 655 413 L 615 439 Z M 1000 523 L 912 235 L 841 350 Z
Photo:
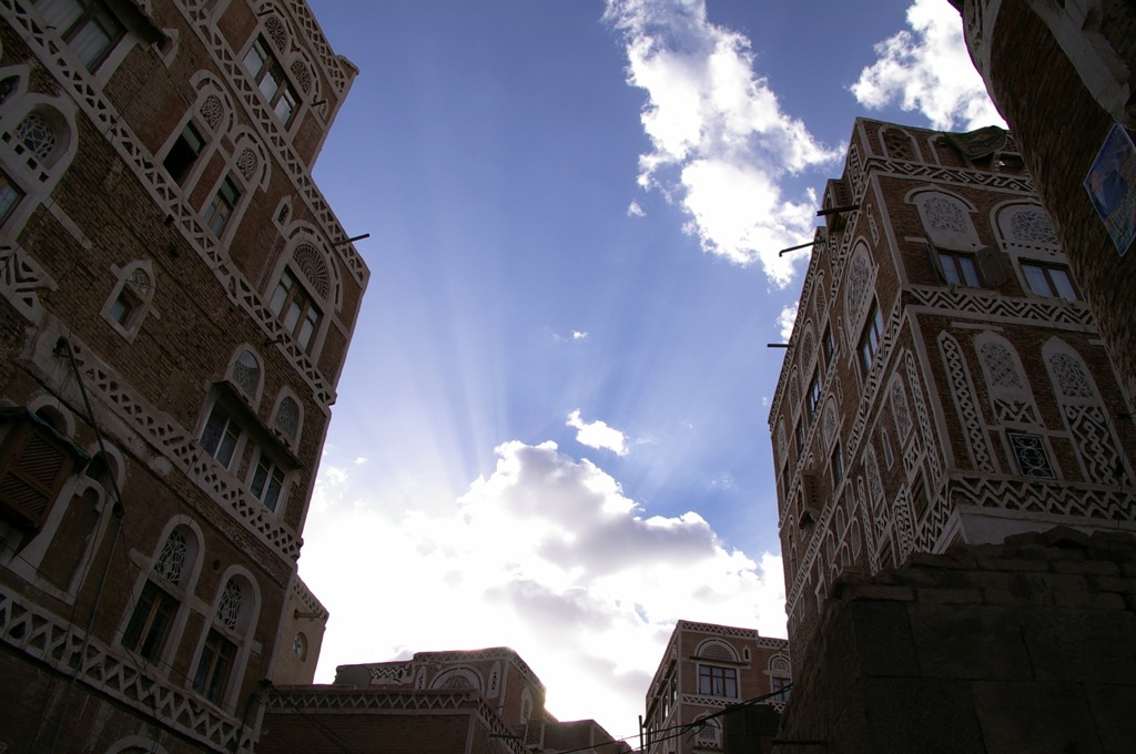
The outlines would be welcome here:
M 267 695 L 257 751 L 504 754 L 630 751 L 594 720 L 561 722 L 544 685 L 508 647 L 418 652 L 411 660 L 341 665 L 332 686 L 279 686 Z

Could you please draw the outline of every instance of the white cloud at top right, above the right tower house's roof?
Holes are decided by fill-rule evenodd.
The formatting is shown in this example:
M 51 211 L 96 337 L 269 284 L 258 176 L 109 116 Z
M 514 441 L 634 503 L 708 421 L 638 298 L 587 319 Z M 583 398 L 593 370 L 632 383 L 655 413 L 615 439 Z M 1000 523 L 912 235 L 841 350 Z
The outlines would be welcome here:
M 893 102 L 939 129 L 1005 126 L 962 40 L 962 19 L 945 0 L 914 0 L 908 25 L 876 45 L 879 59 L 851 86 L 861 104 Z

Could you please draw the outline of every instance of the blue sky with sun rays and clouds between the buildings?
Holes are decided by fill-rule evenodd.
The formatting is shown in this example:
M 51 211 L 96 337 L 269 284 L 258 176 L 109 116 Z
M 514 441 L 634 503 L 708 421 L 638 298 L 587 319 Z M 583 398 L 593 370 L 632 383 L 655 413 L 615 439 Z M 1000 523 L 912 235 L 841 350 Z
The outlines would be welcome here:
M 675 621 L 785 636 L 769 401 L 853 119 L 1001 118 L 946 0 L 309 0 L 370 267 L 300 575 L 340 664 L 510 646 L 637 736 Z M 871 11 L 864 10 L 870 6 Z

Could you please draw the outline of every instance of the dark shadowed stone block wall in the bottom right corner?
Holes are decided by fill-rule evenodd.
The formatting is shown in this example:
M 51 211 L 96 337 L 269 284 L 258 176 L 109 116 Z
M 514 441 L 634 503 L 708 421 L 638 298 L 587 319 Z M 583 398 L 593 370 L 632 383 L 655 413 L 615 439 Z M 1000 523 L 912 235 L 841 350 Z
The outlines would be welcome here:
M 1131 752 L 1136 538 L 1058 528 L 844 576 L 807 656 L 783 740 L 829 754 Z

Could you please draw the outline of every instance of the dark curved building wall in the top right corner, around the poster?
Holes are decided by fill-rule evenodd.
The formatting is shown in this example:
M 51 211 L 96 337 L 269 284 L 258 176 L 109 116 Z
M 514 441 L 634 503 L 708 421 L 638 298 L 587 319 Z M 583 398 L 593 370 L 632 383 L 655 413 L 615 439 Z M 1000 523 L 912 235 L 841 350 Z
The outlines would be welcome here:
M 1136 395 L 1136 8 L 1127 0 L 951 2 L 962 14 L 971 59 L 1021 146 L 1101 338 L 1128 394 Z M 1102 196 L 1089 178 L 1110 136 L 1121 145 L 1113 157 L 1122 160 L 1111 176 L 1111 188 L 1120 188 L 1111 219 L 1127 229 L 1116 240 L 1094 206 Z

